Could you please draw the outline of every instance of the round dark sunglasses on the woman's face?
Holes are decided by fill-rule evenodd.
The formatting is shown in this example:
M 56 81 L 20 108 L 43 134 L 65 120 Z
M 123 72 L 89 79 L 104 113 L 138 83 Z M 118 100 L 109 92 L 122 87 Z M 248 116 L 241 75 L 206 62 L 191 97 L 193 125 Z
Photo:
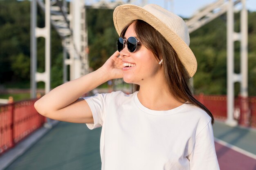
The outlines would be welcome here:
M 127 44 L 128 50 L 133 53 L 137 49 L 138 42 L 139 40 L 137 40 L 135 37 L 129 37 L 127 40 L 120 37 L 117 40 L 117 49 L 120 52 Z

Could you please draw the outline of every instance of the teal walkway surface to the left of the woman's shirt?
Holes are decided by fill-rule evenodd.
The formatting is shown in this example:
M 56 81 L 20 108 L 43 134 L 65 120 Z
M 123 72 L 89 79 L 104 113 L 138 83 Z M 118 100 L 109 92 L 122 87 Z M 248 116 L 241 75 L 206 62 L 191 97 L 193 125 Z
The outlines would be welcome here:
M 5 170 L 100 170 L 100 132 L 60 122 Z

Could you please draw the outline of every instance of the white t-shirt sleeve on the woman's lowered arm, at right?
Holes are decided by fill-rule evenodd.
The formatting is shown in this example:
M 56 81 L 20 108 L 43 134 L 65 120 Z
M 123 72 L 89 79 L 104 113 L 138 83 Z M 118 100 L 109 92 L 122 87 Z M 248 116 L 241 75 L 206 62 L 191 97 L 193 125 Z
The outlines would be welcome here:
M 220 170 L 211 121 L 196 136 L 193 151 L 188 159 L 190 170 Z

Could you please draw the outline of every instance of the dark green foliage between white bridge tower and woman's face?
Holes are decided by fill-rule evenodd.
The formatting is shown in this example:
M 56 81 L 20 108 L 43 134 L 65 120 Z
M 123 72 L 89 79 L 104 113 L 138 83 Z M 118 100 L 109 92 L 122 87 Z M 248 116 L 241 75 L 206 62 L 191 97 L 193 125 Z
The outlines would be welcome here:
M 87 9 L 90 67 L 97 69 L 116 50 L 117 32 L 113 24 L 113 11 Z

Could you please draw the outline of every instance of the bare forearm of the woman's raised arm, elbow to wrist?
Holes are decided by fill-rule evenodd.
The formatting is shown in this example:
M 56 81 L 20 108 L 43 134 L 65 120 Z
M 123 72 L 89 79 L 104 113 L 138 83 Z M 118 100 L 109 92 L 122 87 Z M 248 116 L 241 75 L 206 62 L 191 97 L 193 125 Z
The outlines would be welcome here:
M 43 115 L 59 110 L 72 104 L 83 94 L 108 80 L 108 74 L 103 69 L 99 68 L 97 71 L 54 88 L 35 103 L 35 108 Z

